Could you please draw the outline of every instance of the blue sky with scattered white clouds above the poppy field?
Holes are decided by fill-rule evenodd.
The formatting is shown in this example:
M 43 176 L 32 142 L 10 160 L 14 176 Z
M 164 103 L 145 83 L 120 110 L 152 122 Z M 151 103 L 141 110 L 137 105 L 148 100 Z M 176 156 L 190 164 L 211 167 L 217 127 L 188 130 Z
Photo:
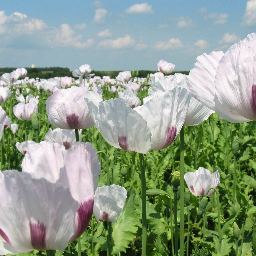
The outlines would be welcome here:
M 190 70 L 256 32 L 256 0 L 1 0 L 0 67 Z

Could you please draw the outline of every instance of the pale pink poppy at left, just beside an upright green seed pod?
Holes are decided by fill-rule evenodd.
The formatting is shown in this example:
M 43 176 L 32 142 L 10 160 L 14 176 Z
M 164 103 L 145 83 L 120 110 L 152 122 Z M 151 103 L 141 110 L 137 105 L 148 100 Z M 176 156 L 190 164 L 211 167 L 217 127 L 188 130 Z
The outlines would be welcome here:
M 38 114 L 38 108 L 34 103 L 29 102 L 24 104 L 23 102 L 20 102 L 13 107 L 13 113 L 18 119 L 22 121 L 31 120 L 32 113 L 36 113 L 36 115 Z

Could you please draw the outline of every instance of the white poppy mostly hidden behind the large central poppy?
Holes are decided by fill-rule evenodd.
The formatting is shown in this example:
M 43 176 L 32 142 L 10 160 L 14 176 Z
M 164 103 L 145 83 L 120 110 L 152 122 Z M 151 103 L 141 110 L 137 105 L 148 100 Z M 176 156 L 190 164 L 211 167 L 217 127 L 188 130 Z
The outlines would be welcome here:
M 187 89 L 187 75 L 176 73 L 174 75 L 158 78 L 157 76 L 151 77 L 151 87 L 148 89 L 148 95 L 157 95 L 161 92 L 172 90 L 176 86 Z M 198 125 L 214 113 L 210 108 L 207 108 L 201 102 L 191 97 L 188 112 L 184 122 L 185 126 Z

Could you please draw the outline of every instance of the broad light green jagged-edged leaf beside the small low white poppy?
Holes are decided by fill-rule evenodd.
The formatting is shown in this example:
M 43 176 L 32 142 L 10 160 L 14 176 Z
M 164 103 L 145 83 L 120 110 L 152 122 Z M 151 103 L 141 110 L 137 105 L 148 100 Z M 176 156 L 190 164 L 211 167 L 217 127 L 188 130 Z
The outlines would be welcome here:
M 126 252 L 126 248 L 129 247 L 129 244 L 136 237 L 136 232 L 138 230 L 137 222 L 139 220 L 139 216 L 134 209 L 134 196 L 135 191 L 133 188 L 130 188 L 124 209 L 119 215 L 118 220 L 113 223 L 113 255 L 117 254 L 118 252 Z

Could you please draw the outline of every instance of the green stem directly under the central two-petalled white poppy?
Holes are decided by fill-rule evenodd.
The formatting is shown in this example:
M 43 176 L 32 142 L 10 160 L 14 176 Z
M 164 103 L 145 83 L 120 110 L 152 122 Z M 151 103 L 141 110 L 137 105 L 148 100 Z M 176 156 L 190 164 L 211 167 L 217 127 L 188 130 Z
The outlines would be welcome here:
M 140 156 L 140 179 L 141 179 L 141 208 L 142 208 L 142 256 L 146 256 L 147 249 L 147 205 L 146 205 L 146 174 L 144 155 Z

